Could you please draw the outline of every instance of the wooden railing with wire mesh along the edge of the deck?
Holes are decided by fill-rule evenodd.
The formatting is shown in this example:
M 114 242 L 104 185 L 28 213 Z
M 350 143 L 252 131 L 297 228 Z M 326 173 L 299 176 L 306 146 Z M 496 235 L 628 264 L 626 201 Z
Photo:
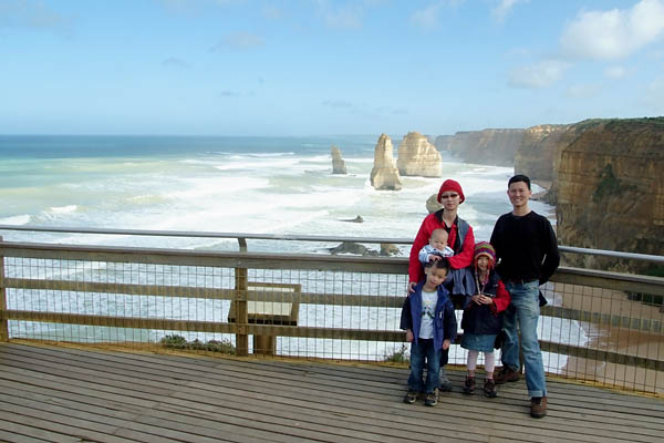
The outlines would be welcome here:
M 390 238 L 307 239 L 407 244 Z M 356 361 L 407 354 L 398 330 L 407 285 L 405 257 L 0 241 L 0 259 L 2 340 L 153 348 L 170 343 L 200 352 L 234 349 L 238 354 Z M 647 293 L 661 300 L 664 279 L 561 267 L 543 292 L 549 306 L 542 309 L 539 336 L 549 373 L 664 393 L 661 301 L 630 299 L 630 293 Z M 458 346 L 450 362 L 465 363 Z

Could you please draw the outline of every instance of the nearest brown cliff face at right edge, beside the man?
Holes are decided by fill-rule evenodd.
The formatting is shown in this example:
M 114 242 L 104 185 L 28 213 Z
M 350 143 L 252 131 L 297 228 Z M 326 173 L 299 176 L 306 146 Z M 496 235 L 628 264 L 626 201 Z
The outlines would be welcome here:
M 574 126 L 579 135 L 561 147 L 558 165 L 559 243 L 661 255 L 664 119 L 589 121 Z M 615 259 L 569 256 L 574 266 L 625 267 Z

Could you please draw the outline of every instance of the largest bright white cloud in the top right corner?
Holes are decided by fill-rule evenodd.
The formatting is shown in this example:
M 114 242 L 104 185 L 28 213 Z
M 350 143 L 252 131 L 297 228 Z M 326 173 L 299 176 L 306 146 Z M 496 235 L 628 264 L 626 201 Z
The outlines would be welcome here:
M 613 60 L 630 55 L 664 32 L 664 0 L 641 0 L 632 9 L 582 11 L 560 39 L 574 58 Z

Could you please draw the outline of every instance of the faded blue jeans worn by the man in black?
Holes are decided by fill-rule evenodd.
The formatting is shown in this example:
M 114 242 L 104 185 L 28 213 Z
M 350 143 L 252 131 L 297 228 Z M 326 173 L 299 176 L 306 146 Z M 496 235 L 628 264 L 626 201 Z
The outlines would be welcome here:
M 539 281 L 525 281 L 522 284 L 506 284 L 511 296 L 511 303 L 502 320 L 506 332 L 502 344 L 502 364 L 513 371 L 519 370 L 519 336 L 517 322 L 521 332 L 521 350 L 523 351 L 523 365 L 526 367 L 526 385 L 528 395 L 547 395 L 547 381 L 542 353 L 537 339 L 537 323 L 539 321 Z

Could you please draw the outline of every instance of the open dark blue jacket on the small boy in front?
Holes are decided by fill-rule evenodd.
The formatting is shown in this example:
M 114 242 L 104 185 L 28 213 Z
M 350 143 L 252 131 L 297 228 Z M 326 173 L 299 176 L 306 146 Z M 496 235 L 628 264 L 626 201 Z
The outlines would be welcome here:
M 415 286 L 415 292 L 412 292 L 402 308 L 401 329 L 411 329 L 415 336 L 415 343 L 419 340 L 419 326 L 422 322 L 422 288 L 425 281 L 421 281 Z M 443 341 L 449 339 L 456 340 L 457 321 L 454 313 L 454 305 L 449 299 L 449 292 L 438 286 L 438 301 L 434 313 L 434 349 L 436 351 L 443 349 Z

